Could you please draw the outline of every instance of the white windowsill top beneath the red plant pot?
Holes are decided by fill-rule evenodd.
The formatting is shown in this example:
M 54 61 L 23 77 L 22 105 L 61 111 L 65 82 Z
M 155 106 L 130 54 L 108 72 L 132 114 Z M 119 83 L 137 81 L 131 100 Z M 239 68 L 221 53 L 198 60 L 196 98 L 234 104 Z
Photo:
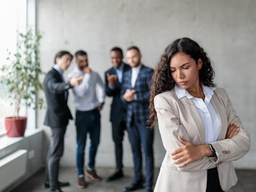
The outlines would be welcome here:
M 17 143 L 24 138 L 27 138 L 33 134 L 36 134 L 36 132 L 40 132 L 42 129 L 28 129 L 25 131 L 24 137 L 19 137 L 19 138 L 9 138 L 8 136 L 2 136 L 0 138 L 0 150 L 2 150 L 5 147 L 8 147 L 9 145 L 12 145 L 13 143 Z

